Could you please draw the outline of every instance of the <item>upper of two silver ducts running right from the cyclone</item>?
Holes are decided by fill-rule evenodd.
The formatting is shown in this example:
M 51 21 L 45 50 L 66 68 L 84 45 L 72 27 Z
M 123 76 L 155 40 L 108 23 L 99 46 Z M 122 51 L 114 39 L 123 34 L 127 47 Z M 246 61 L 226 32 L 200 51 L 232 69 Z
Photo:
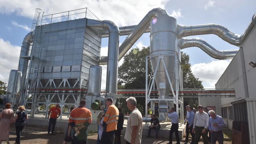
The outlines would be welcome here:
M 248 28 L 242 35 L 237 35 L 219 24 L 202 24 L 194 26 L 178 25 L 178 38 L 188 37 L 191 35 L 215 34 L 230 44 L 233 44 L 235 46 L 241 46 L 243 45 L 255 25 L 256 14 L 253 15 L 252 22 L 249 24 Z

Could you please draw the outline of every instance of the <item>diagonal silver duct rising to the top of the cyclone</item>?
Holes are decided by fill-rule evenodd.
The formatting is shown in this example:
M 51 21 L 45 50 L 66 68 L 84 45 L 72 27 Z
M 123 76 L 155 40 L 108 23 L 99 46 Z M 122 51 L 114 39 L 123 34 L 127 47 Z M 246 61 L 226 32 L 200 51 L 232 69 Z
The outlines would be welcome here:
M 167 15 L 167 12 L 161 8 L 155 8 L 148 12 L 148 14 L 139 22 L 139 24 L 132 30 L 130 35 L 126 37 L 124 42 L 119 47 L 119 57 L 120 61 L 122 57 L 130 50 L 134 43 L 148 30 L 150 22 L 154 17 L 160 17 L 161 15 Z M 131 28 L 129 28 L 131 30 Z M 107 64 L 108 57 L 100 57 L 100 65 Z

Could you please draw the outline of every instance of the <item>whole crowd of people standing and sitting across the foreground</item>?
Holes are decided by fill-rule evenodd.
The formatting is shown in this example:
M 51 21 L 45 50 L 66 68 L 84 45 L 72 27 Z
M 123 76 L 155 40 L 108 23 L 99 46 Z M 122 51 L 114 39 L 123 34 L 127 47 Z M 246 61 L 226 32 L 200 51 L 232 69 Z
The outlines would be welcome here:
M 127 107 L 131 111 L 127 120 L 127 127 L 124 135 L 126 144 L 141 144 L 142 131 L 143 131 L 143 118 L 141 112 L 137 109 L 137 101 L 134 97 L 126 99 Z M 92 123 L 91 111 L 87 108 L 86 101 L 81 100 L 79 107 L 70 108 L 69 124 L 66 131 L 63 144 L 71 142 L 72 144 L 86 144 L 88 136 L 88 126 Z M 14 116 L 14 112 L 11 109 L 11 104 L 6 104 L 6 109 L 0 113 L 0 144 L 2 141 L 6 141 L 9 144 L 9 129 L 11 124 L 15 123 L 16 127 L 16 142 L 20 144 L 20 134 L 23 127 L 26 125 L 28 115 L 25 112 L 25 107 L 22 105 L 19 108 L 19 112 Z M 98 138 L 97 144 L 121 144 L 121 131 L 124 124 L 124 114 L 120 107 L 116 107 L 113 104 L 113 99 L 106 99 L 105 105 L 101 105 L 101 111 L 98 113 L 96 124 L 98 125 Z M 198 144 L 200 137 L 202 136 L 204 144 L 215 144 L 216 141 L 219 144 L 223 144 L 223 127 L 226 126 L 223 118 L 217 115 L 213 110 L 208 110 L 207 107 L 198 105 L 198 112 L 195 111 L 190 105 L 186 106 L 187 114 L 185 119 L 186 124 L 186 139 L 184 142 L 189 141 L 189 134 L 191 134 L 191 144 Z M 160 130 L 160 122 L 155 114 L 152 114 L 151 109 L 148 109 L 151 114 L 150 126 L 148 127 L 148 137 L 151 135 L 152 129 L 156 131 L 156 139 L 158 139 L 158 131 Z M 55 135 L 54 128 L 56 120 L 59 117 L 61 110 L 57 103 L 55 107 L 52 107 L 48 111 L 49 125 L 48 134 Z M 171 129 L 169 131 L 169 143 L 173 142 L 173 133 L 176 136 L 176 144 L 180 144 L 178 127 L 179 127 L 179 115 L 176 113 L 176 109 L 171 107 L 169 109 L 168 118 L 171 120 Z M 50 133 L 51 132 L 51 133 Z M 208 137 L 209 133 L 209 137 Z

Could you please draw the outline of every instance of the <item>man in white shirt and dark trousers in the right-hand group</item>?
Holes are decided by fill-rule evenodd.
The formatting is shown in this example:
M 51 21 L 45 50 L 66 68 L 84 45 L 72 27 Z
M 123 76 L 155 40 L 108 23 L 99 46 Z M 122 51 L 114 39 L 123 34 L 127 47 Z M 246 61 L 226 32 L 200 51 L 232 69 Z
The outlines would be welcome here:
M 195 144 L 198 144 L 200 137 L 203 137 L 204 144 L 208 144 L 207 131 L 209 116 L 203 111 L 202 105 L 198 105 L 198 112 L 195 114 L 192 132 L 195 131 Z

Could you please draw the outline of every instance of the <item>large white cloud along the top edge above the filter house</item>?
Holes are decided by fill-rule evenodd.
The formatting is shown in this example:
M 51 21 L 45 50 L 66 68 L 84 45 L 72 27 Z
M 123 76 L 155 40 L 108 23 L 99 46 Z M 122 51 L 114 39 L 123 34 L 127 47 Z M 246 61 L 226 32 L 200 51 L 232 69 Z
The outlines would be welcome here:
M 112 20 L 118 26 L 138 24 L 155 7 L 165 8 L 169 0 L 1 0 L 0 13 L 15 13 L 24 17 L 34 17 L 35 9 L 45 14 L 59 13 L 88 7 L 99 19 Z M 61 4 L 61 6 L 60 6 Z M 89 14 L 89 13 L 88 13 Z

